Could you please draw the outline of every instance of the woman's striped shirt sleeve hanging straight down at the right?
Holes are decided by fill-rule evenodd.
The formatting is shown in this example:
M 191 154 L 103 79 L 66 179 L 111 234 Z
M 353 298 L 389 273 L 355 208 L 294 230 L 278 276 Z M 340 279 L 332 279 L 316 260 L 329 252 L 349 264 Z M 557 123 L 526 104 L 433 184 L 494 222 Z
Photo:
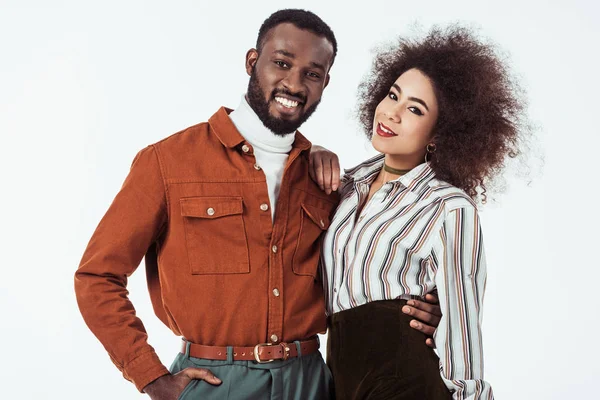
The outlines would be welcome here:
M 444 383 L 455 399 L 492 399 L 492 388 L 483 380 L 481 317 L 486 266 L 474 206 L 448 214 L 432 256 L 442 308 L 434 340 Z

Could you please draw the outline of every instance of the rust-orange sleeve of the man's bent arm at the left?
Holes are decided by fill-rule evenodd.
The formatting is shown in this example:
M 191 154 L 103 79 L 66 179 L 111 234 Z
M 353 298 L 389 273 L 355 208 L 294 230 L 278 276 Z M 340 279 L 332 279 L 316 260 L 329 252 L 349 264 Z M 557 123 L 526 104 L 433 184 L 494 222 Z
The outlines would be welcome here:
M 139 390 L 168 373 L 128 298 L 127 277 L 166 223 L 164 186 L 154 150 L 146 148 L 100 221 L 75 273 L 81 314 L 113 363 Z

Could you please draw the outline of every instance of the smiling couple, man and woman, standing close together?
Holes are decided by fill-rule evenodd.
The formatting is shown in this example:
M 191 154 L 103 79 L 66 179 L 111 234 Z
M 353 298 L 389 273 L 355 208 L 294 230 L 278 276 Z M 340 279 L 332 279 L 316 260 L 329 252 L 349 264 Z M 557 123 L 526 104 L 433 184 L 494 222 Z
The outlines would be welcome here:
M 360 112 L 381 155 L 338 194 L 335 156 L 296 132 L 336 50 L 313 13 L 272 14 L 238 108 L 140 151 L 94 232 L 79 307 L 152 399 L 493 397 L 472 198 L 518 133 L 506 72 L 458 28 L 380 55 Z M 127 296 L 144 256 L 155 313 L 184 338 L 170 370 Z M 327 323 L 330 368 L 316 337 Z

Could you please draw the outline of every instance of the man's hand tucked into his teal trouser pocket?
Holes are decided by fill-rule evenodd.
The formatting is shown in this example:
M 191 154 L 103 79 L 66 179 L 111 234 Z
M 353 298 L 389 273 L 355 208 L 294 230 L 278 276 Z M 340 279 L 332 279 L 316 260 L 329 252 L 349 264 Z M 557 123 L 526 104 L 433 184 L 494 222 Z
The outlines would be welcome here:
M 186 368 L 173 375 L 161 376 L 148 384 L 144 392 L 152 400 L 177 400 L 186 386 L 195 379 L 215 386 L 221 384 L 221 380 L 208 369 Z

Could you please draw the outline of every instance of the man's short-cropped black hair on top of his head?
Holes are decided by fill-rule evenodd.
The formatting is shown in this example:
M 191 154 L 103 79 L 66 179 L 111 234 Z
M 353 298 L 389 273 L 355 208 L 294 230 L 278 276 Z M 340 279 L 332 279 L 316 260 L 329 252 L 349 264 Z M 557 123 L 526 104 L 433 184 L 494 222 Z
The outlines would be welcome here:
M 294 24 L 298 29 L 310 31 L 315 35 L 327 39 L 333 46 L 333 58 L 331 59 L 331 64 L 333 65 L 333 61 L 337 54 L 337 40 L 335 40 L 335 35 L 329 25 L 323 22 L 323 20 L 315 13 L 307 10 L 288 8 L 271 14 L 271 16 L 263 22 L 258 31 L 258 38 L 256 39 L 256 50 L 258 50 L 258 54 L 262 51 L 267 33 L 277 25 L 288 22 Z

